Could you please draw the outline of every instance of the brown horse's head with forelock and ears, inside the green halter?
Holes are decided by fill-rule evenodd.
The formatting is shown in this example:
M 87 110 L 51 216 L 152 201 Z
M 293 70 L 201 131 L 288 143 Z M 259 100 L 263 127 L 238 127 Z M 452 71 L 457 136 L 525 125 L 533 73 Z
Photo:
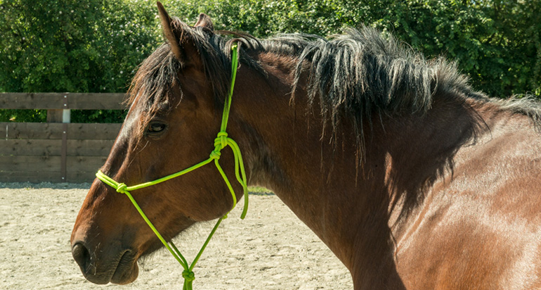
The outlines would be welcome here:
M 97 284 L 132 282 L 138 275 L 138 258 L 162 246 L 122 194 L 124 184 L 150 182 L 208 159 L 221 129 L 217 109 L 223 106 L 231 76 L 231 56 L 217 53 L 223 39 L 216 39 L 207 15 L 201 14 L 190 27 L 170 18 L 159 2 L 158 8 L 168 43 L 136 73 L 126 120 L 100 169 L 122 182 L 122 189 L 96 179 L 72 232 L 73 257 L 86 279 Z M 216 55 L 202 58 L 201 53 Z M 209 60 L 214 62 L 204 63 Z M 223 168 L 233 168 L 233 155 L 224 155 Z M 167 241 L 196 222 L 223 216 L 234 203 L 212 166 L 138 189 L 133 198 Z

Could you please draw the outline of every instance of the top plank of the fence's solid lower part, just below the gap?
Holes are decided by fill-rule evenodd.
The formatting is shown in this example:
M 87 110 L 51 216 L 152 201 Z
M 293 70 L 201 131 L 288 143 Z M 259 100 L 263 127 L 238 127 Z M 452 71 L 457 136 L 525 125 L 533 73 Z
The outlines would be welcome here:
M 122 124 L 70 123 L 67 139 L 116 139 Z M 0 139 L 62 139 L 62 123 L 0 122 Z

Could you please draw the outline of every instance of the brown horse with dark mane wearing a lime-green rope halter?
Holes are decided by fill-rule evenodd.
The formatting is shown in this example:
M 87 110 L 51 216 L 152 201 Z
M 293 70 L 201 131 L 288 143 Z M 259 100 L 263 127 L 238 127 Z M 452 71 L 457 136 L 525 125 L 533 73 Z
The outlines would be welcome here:
M 230 39 L 206 15 L 190 27 L 159 8 L 168 43 L 132 82 L 106 175 L 140 184 L 208 158 L 236 42 L 228 133 L 248 183 L 272 189 L 355 289 L 541 288 L 539 103 L 489 99 L 452 63 L 366 27 L 330 40 Z M 235 179 L 233 155 L 223 151 L 221 163 Z M 212 166 L 133 196 L 168 241 L 232 206 Z M 138 258 L 162 246 L 129 199 L 98 179 L 71 242 L 98 284 L 132 282 Z

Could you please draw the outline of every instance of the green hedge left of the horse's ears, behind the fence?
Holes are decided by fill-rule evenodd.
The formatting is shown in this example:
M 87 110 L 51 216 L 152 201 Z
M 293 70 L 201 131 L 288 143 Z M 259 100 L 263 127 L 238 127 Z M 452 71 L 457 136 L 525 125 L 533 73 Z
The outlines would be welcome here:
M 160 39 L 155 8 L 148 4 L 0 2 L 0 91 L 126 92 L 138 63 Z M 22 111 L 0 112 L 0 120 L 13 119 L 13 113 L 15 120 L 28 120 Z M 122 122 L 122 112 L 74 111 L 72 119 Z

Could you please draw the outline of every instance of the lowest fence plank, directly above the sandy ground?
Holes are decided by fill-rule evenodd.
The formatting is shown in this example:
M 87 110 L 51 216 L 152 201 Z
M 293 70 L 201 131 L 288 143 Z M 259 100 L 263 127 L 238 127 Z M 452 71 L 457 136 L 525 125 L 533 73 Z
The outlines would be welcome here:
M 96 172 L 67 172 L 66 182 L 93 182 Z M 60 172 L 1 172 L 0 182 L 62 182 Z

